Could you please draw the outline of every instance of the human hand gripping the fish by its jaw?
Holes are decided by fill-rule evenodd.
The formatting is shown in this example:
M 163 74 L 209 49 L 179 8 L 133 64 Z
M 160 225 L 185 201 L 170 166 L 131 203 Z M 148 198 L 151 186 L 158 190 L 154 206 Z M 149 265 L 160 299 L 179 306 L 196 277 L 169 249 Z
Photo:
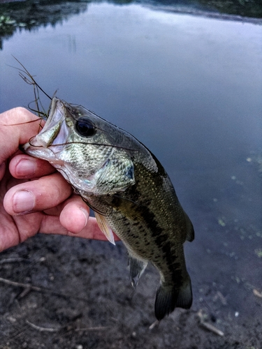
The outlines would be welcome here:
M 18 149 L 38 130 L 38 117 L 22 107 L 0 114 L 0 251 L 37 232 L 106 240 L 61 174 Z

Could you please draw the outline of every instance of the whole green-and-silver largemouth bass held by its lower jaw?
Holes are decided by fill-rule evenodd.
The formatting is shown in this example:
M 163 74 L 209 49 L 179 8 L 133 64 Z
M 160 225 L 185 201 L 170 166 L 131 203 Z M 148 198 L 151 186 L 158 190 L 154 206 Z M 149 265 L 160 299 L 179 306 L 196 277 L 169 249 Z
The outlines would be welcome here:
M 42 131 L 24 151 L 49 161 L 91 207 L 108 240 L 129 253 L 135 287 L 151 262 L 160 274 L 155 315 L 189 309 L 191 281 L 183 244 L 194 229 L 161 163 L 142 143 L 85 107 L 52 99 Z

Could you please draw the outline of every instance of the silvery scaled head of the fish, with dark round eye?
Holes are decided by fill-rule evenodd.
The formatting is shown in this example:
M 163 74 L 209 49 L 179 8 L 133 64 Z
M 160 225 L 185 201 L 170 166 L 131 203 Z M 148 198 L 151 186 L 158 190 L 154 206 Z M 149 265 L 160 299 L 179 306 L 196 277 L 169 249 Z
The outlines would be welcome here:
M 45 126 L 23 150 L 49 161 L 80 193 L 106 195 L 135 184 L 128 143 L 117 126 L 53 98 Z

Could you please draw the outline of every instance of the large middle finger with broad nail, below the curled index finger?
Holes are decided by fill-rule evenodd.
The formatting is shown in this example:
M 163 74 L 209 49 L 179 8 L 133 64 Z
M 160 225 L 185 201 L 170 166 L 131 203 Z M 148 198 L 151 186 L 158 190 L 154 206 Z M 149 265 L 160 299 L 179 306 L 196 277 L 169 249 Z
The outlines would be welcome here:
M 3 206 L 12 216 L 44 211 L 59 205 L 72 191 L 70 184 L 56 172 L 13 186 L 6 193 Z

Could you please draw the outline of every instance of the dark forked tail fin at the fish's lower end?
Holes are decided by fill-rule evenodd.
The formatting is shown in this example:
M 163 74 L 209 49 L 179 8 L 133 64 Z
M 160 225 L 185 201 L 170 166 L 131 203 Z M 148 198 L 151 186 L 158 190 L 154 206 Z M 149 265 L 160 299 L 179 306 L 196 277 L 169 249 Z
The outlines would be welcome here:
M 166 315 L 172 313 L 175 307 L 189 309 L 192 304 L 192 290 L 189 276 L 177 290 L 170 285 L 159 286 L 157 290 L 156 302 L 154 304 L 154 313 L 157 320 L 162 320 Z

